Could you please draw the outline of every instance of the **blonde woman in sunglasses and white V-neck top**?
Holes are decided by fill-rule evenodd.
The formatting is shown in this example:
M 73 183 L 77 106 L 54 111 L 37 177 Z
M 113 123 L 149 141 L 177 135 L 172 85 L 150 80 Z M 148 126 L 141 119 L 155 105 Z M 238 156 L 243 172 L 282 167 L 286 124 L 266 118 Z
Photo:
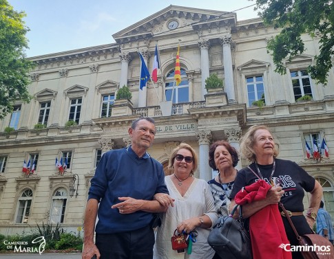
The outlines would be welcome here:
M 156 259 L 211 259 L 214 251 L 207 243 L 211 226 L 218 219 L 209 184 L 194 177 L 198 157 L 188 144 L 181 143 L 169 158 L 168 168 L 174 171 L 165 177 L 165 183 L 174 207 L 163 214 L 163 222 L 156 233 L 154 258 Z M 191 254 L 187 250 L 178 253 L 171 249 L 171 236 L 196 230 L 196 243 L 192 244 Z

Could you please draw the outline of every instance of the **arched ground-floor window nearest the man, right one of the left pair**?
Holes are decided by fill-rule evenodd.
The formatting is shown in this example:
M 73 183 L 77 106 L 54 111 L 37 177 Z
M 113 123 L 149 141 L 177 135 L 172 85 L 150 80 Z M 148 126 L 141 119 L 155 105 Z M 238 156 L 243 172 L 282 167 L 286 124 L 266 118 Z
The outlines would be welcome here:
M 65 218 L 65 208 L 67 201 L 67 190 L 65 188 L 57 189 L 52 196 L 52 205 L 50 213 L 51 223 L 63 223 Z

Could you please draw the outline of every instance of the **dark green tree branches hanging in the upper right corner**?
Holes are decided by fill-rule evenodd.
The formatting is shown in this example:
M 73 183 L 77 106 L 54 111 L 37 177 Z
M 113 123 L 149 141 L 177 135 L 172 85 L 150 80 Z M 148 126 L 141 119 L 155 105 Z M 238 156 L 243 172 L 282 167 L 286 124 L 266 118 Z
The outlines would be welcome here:
M 283 60 L 291 60 L 304 53 L 301 34 L 320 36 L 320 54 L 315 65 L 308 68 L 309 75 L 317 83 L 326 85 L 329 69 L 333 67 L 334 49 L 334 1 L 332 0 L 255 0 L 256 10 L 267 25 L 282 28 L 271 39 L 267 49 L 272 53 L 275 71 L 286 73 Z

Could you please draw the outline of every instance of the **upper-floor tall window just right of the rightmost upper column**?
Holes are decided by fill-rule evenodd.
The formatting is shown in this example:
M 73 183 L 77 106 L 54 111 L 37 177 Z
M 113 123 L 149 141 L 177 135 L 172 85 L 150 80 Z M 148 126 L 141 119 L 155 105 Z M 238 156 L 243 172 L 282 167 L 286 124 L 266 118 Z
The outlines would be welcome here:
M 248 105 L 254 101 L 264 101 L 264 84 L 263 76 L 250 76 L 246 78 L 247 93 L 248 93 Z

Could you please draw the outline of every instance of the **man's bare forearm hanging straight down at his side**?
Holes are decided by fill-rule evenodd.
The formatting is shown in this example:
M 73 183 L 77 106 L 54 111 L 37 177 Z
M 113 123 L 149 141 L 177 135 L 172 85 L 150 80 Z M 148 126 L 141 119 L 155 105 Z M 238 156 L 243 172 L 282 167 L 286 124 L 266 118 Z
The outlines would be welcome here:
M 98 201 L 96 199 L 89 199 L 87 201 L 85 211 L 85 221 L 83 223 L 84 239 L 83 239 L 83 259 L 91 259 L 94 255 L 100 258 L 100 251 L 94 244 L 95 221 L 98 210 Z

